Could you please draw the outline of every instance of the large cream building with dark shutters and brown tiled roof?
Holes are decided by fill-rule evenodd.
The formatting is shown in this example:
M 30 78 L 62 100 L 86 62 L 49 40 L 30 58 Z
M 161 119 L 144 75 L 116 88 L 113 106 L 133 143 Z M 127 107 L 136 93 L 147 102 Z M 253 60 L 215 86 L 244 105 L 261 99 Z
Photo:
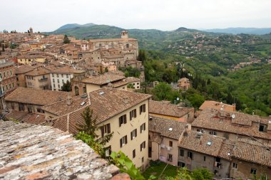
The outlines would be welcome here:
M 148 100 L 151 95 L 101 88 L 84 95 L 41 107 L 53 127 L 73 134 L 78 124 L 85 123 L 81 113 L 86 107 L 97 117 L 97 134 L 113 132 L 106 146 L 114 152 L 122 151 L 137 167 L 148 165 Z

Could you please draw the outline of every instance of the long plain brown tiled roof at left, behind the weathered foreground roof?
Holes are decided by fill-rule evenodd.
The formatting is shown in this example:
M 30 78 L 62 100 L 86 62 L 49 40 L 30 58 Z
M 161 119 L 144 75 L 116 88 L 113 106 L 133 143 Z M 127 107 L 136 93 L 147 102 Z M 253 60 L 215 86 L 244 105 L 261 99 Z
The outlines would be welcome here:
M 52 90 L 34 90 L 18 87 L 5 97 L 6 101 L 21 102 L 31 105 L 48 105 L 60 100 L 66 100 L 69 92 Z

